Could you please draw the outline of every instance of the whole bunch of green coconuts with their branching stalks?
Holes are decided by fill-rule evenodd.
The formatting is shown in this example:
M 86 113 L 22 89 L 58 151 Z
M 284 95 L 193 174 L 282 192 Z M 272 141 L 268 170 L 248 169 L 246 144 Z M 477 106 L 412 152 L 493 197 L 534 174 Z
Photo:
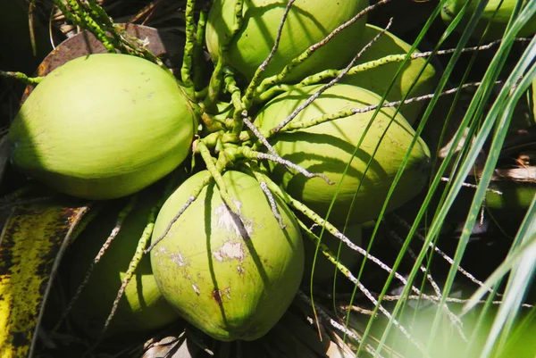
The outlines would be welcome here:
M 426 183 L 430 151 L 411 125 L 421 104 L 403 101 L 428 93 L 435 72 L 394 60 L 411 46 L 366 24 L 366 0 L 216 0 L 199 12 L 188 1 L 180 78 L 125 42 L 97 4 L 57 3 L 122 54 L 80 57 L 41 79 L 8 139 L 18 170 L 110 207 L 73 247 L 72 286 L 88 288 L 73 290 L 72 316 L 91 336 L 99 322 L 113 333 L 181 317 L 221 341 L 264 337 L 318 248 L 319 281 L 335 266 L 351 275 L 361 225 Z M 152 187 L 177 172 L 179 184 Z M 341 242 L 348 257 L 338 259 Z M 87 279 L 102 245 L 102 269 Z M 99 308 L 111 290 L 115 318 Z

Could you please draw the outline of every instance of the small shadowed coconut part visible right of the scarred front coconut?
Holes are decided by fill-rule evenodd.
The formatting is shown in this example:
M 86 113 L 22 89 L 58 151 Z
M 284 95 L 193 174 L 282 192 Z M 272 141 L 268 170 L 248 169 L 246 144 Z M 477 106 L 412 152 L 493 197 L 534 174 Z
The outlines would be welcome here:
M 320 235 L 320 229 L 317 234 Z M 354 244 L 360 246 L 362 243 L 361 240 L 361 225 L 350 225 L 345 230 L 344 234 L 350 239 Z M 352 250 L 345 244 L 342 244 L 339 252 L 340 240 L 337 237 L 331 235 L 327 230 L 324 230 L 324 233 L 321 237 L 322 244 L 328 246 L 331 250 L 331 253 L 334 254 L 334 258 L 338 259 L 343 265 L 348 269 L 356 265 L 357 262 L 361 261 L 363 257 L 361 254 L 358 254 L 356 251 Z M 335 265 L 322 254 L 322 250 L 318 250 L 316 254 L 316 261 L 314 260 L 314 254 L 316 253 L 316 245 L 311 240 L 304 240 L 304 247 L 306 250 L 306 268 L 304 270 L 304 279 L 310 280 L 311 273 L 313 273 L 313 282 L 322 283 L 328 279 L 333 279 L 336 267 Z M 339 253 L 339 256 L 337 255 Z

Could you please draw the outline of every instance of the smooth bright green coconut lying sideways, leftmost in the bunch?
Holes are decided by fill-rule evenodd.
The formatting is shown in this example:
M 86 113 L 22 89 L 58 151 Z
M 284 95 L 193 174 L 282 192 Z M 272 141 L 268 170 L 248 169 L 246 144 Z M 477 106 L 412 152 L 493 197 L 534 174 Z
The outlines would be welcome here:
M 52 71 L 9 131 L 12 162 L 72 196 L 149 186 L 188 155 L 195 117 L 175 79 L 127 54 L 91 54 Z

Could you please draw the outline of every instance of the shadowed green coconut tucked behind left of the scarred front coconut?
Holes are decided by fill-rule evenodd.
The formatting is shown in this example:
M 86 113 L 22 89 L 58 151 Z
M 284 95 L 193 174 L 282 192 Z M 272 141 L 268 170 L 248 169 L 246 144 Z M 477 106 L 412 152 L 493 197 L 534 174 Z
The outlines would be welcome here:
M 146 191 L 140 195 L 138 204 L 123 221 L 119 234 L 113 239 L 100 262 L 95 265 L 87 286 L 72 307 L 72 321 L 91 337 L 98 337 L 104 327 L 112 310 L 113 300 L 136 251 L 138 240 L 146 228 L 149 212 L 158 197 L 155 191 Z M 120 207 L 111 206 L 99 213 L 73 244 L 71 264 L 67 272 L 71 282 L 71 296 L 80 286 L 90 263 L 111 234 Z M 106 335 L 110 337 L 160 329 L 178 320 L 179 315 L 156 286 L 151 263 L 146 255 L 139 262 L 127 285 Z

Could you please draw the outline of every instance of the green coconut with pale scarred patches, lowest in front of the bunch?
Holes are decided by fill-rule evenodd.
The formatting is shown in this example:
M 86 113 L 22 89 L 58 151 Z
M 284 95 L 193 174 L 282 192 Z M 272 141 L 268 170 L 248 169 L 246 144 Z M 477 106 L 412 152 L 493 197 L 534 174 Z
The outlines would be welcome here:
M 206 174 L 192 176 L 168 198 L 153 238 Z M 297 222 L 278 197 L 284 229 L 253 177 L 227 171 L 223 180 L 240 219 L 213 182 L 151 251 L 151 263 L 163 296 L 186 321 L 222 341 L 254 340 L 272 329 L 296 295 L 304 247 Z

